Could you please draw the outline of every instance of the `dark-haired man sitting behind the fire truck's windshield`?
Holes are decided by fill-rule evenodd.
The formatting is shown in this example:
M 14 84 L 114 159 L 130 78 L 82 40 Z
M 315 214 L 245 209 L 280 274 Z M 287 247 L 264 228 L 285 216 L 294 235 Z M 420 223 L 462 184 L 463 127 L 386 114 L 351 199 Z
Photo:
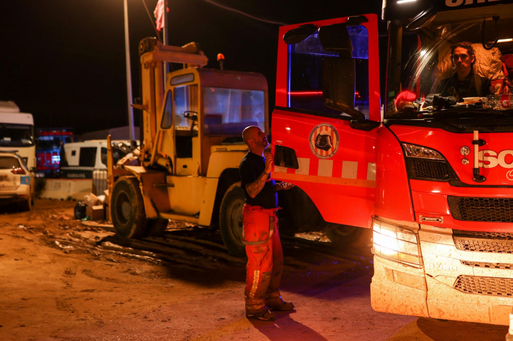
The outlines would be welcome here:
M 472 70 L 476 63 L 476 53 L 470 43 L 452 45 L 450 58 L 456 73 L 442 79 L 436 92 L 440 92 L 443 97 L 456 97 L 457 102 L 463 102 L 465 97 L 484 97 L 490 94 L 490 80 Z

